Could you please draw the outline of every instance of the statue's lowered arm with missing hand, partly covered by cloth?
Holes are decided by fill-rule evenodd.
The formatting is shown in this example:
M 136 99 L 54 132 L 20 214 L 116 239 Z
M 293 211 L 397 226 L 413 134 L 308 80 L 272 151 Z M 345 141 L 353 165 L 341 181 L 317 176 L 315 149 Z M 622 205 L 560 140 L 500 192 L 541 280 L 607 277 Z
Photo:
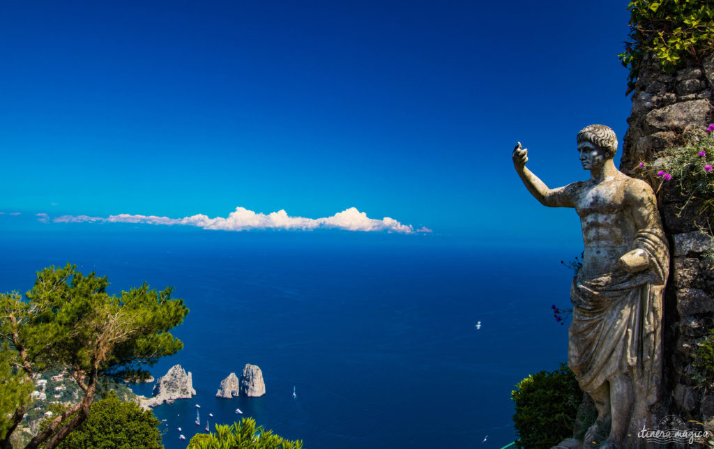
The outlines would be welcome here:
M 630 179 L 625 187 L 625 204 L 630 208 L 635 232 L 648 231 L 662 233 L 657 198 L 648 183 L 640 179 Z M 630 273 L 644 271 L 652 266 L 652 256 L 643 248 L 634 248 L 620 257 L 620 267 Z

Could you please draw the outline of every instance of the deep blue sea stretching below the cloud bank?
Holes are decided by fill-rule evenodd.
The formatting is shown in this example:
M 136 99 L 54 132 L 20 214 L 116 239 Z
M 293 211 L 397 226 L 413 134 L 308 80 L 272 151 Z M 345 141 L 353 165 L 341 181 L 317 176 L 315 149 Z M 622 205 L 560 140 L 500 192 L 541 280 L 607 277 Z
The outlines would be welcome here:
M 208 413 L 211 428 L 250 416 L 308 449 L 501 448 L 516 438 L 514 385 L 565 361 L 567 326 L 550 305 L 568 304 L 560 260 L 580 251 L 101 224 L 9 229 L 0 244 L 0 291 L 24 293 L 36 271 L 67 262 L 108 275 L 116 293 L 176 288 L 190 308 L 174 331 L 184 348 L 149 370 L 180 363 L 198 394 L 154 408 L 166 448 L 186 448 Z M 266 395 L 216 398 L 246 363 L 263 371 Z

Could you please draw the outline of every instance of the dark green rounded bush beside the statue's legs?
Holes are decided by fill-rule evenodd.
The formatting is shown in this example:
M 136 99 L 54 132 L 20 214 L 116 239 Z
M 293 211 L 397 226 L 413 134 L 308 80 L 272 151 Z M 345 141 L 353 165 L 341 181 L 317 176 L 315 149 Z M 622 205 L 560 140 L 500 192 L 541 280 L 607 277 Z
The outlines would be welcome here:
M 549 373 L 540 371 L 521 380 L 511 392 L 516 403 L 513 423 L 523 448 L 550 448 L 573 435 L 583 392 L 565 363 Z

